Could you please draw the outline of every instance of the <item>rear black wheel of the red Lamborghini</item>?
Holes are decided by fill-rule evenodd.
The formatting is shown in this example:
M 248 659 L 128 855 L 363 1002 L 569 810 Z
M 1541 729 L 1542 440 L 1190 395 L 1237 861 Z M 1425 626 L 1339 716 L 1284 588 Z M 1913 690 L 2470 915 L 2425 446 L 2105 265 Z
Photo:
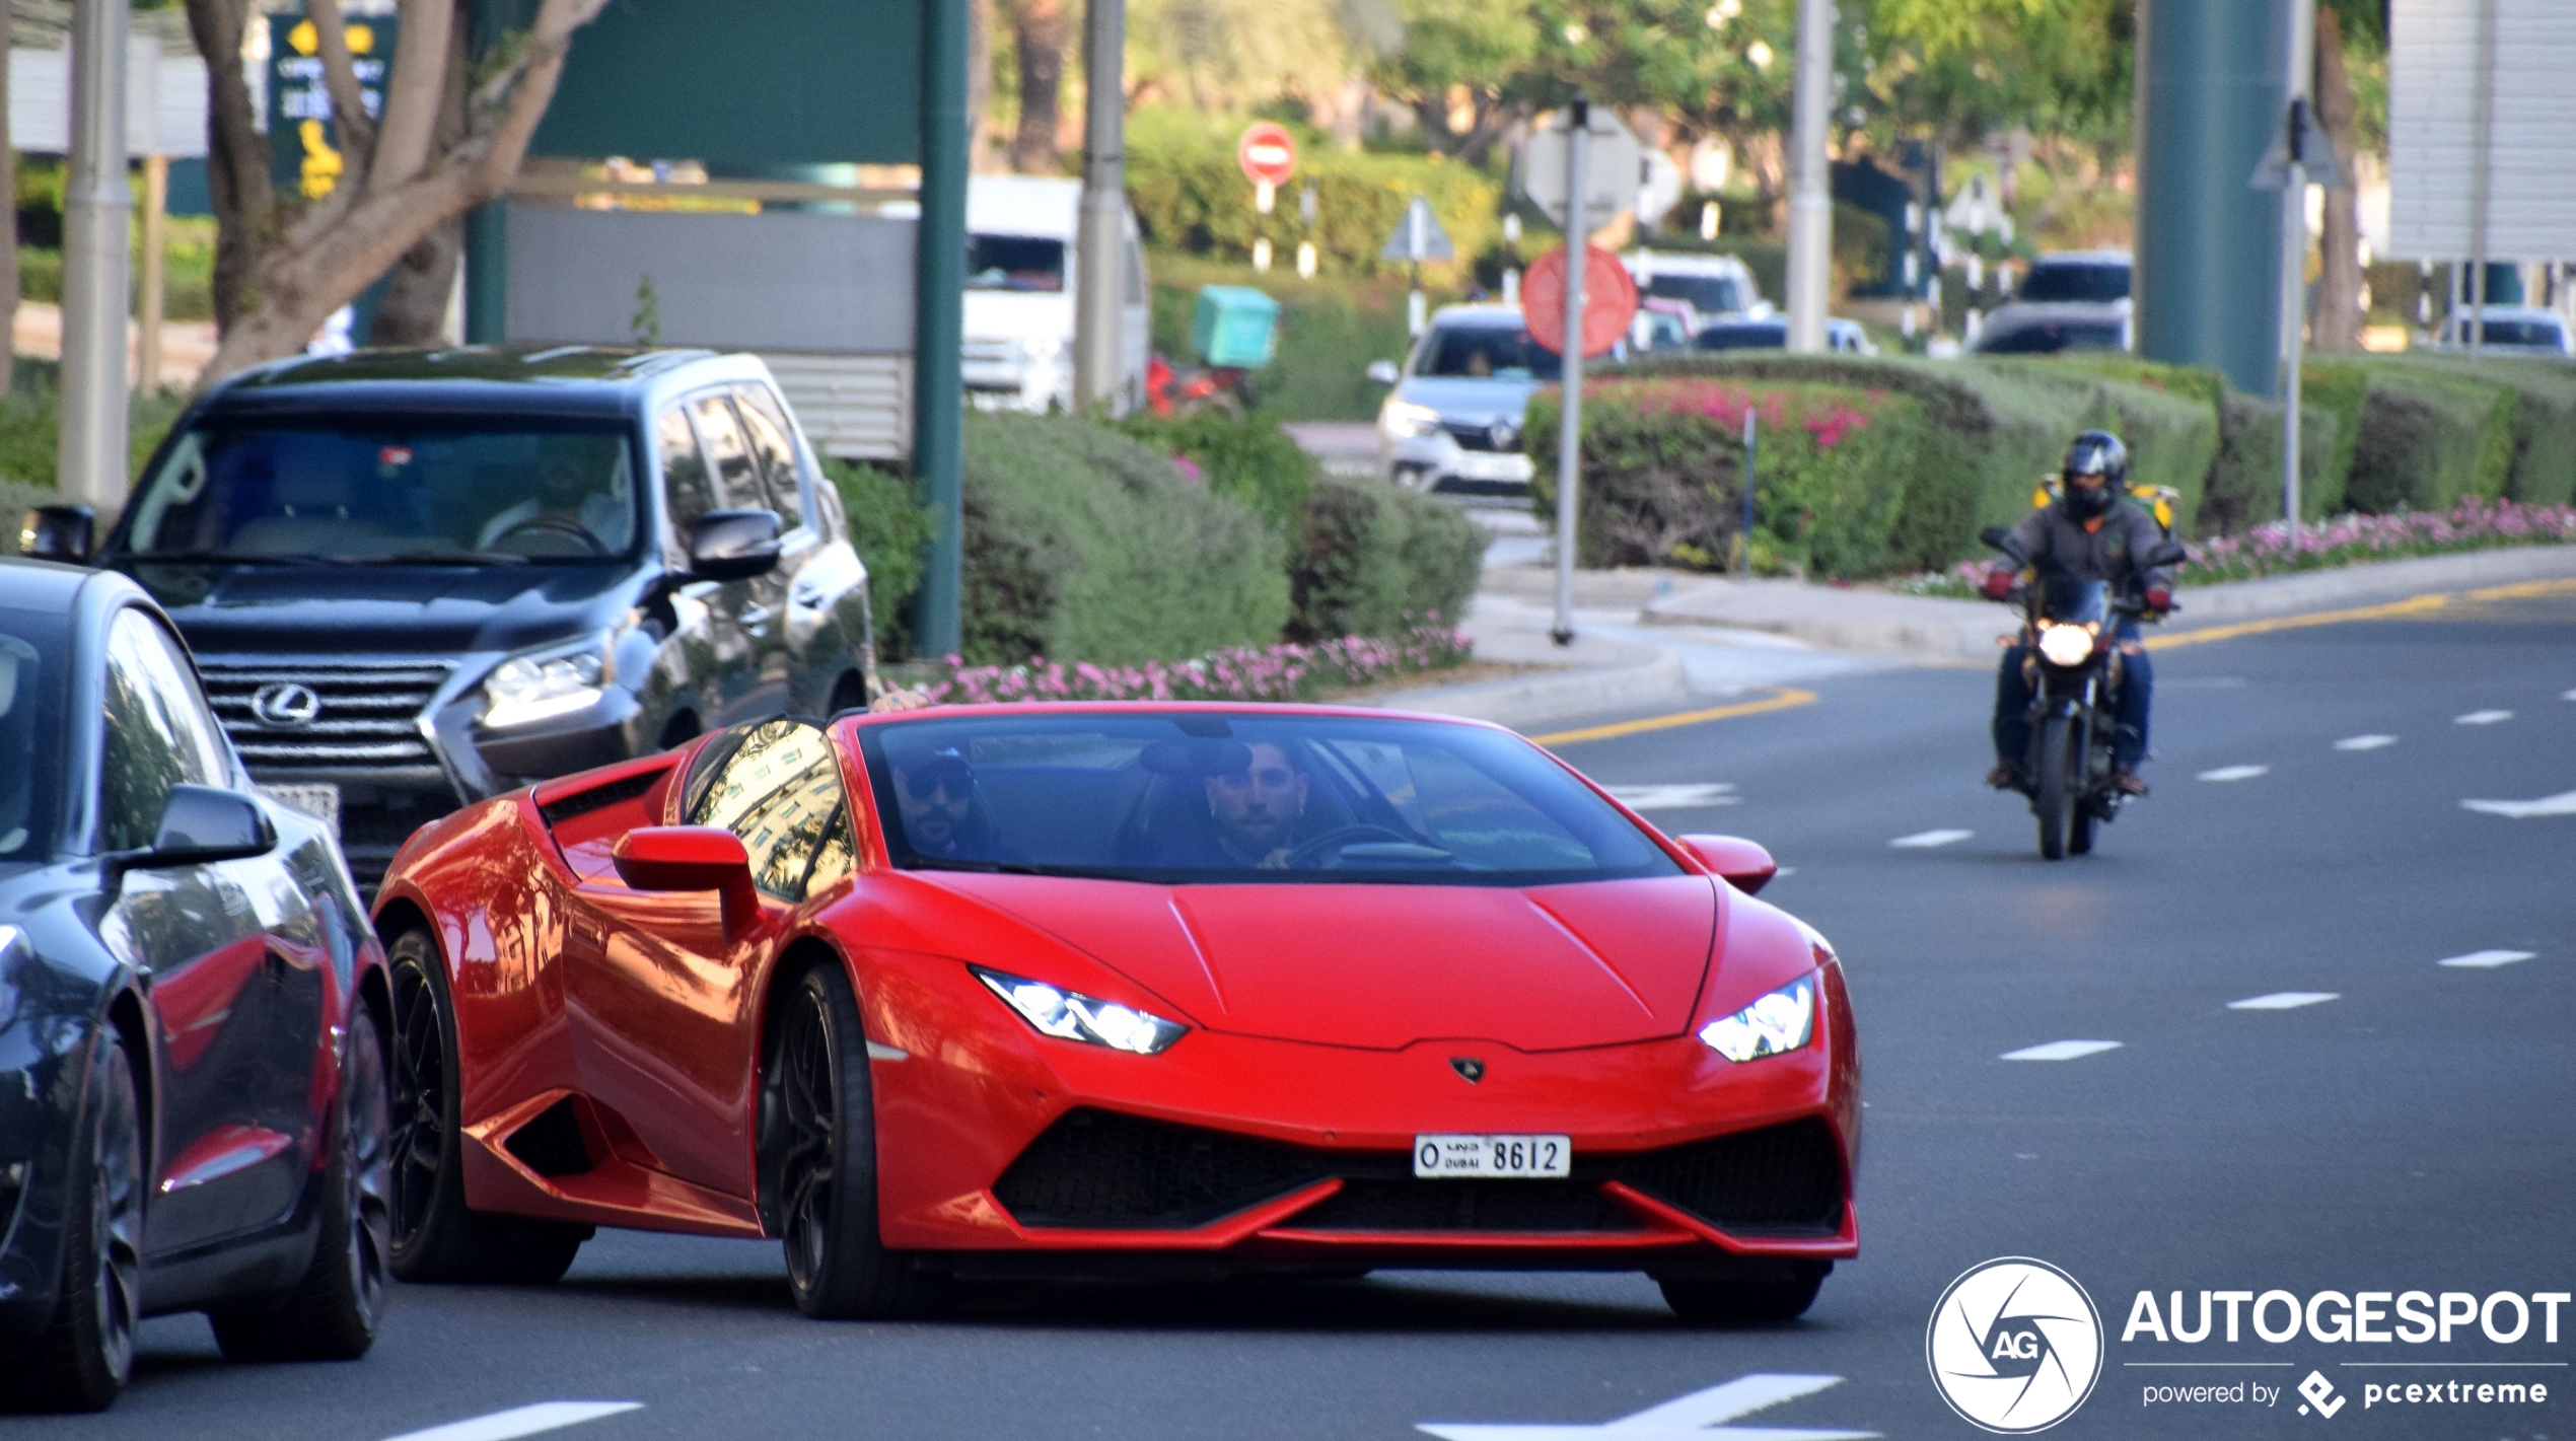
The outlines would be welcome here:
M 544 1286 L 562 1279 L 590 1227 L 466 1209 L 456 1013 L 438 946 L 428 931 L 404 931 L 386 946 L 386 962 L 394 974 L 389 1271 L 404 1281 Z

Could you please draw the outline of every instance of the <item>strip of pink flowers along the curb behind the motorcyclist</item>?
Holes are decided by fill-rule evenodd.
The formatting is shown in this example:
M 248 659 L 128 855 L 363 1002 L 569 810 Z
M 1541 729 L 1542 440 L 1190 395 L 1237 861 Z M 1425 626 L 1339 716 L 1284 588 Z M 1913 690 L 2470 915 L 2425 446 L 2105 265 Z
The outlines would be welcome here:
M 2496 546 L 2576 544 L 2576 505 L 2522 505 L 2517 500 L 2478 500 L 2470 495 L 2452 510 L 2401 510 L 2396 516 L 2334 516 L 2298 528 L 2272 521 L 2241 536 L 2192 541 L 2182 585 L 2254 580 L 2290 570 L 2324 570 L 2411 554 L 2452 554 Z M 1953 572 L 1927 572 L 1896 583 L 1911 595 L 1973 598 L 1976 583 L 1996 559 L 1968 559 Z

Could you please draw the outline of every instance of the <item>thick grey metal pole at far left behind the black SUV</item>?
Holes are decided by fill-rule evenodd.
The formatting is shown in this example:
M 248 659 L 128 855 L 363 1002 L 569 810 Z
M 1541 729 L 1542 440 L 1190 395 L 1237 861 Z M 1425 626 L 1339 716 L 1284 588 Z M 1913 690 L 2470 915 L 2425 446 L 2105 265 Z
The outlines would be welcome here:
M 100 513 L 126 500 L 126 0 L 72 5 L 72 173 L 62 196 L 62 441 L 57 485 Z

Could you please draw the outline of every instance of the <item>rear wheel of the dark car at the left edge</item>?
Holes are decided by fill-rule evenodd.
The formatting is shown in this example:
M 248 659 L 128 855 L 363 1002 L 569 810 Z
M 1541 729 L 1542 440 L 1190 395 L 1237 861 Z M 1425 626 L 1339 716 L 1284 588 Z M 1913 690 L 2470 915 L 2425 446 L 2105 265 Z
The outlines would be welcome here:
M 374 1008 L 348 1021 L 340 1124 L 325 1173 L 312 1266 L 283 1304 L 216 1310 L 214 1340 L 232 1361 L 355 1361 L 376 1346 L 392 1250 L 392 1108 Z

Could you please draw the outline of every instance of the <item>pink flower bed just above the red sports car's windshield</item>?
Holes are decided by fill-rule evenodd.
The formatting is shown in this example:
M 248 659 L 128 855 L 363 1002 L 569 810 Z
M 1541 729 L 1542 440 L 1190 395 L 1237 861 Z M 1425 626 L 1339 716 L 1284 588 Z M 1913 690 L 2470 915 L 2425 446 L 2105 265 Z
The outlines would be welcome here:
M 1396 639 L 1340 637 L 1316 644 L 1247 644 L 1198 660 L 1092 665 L 1046 660 L 966 665 L 956 655 L 920 688 L 933 701 L 1303 701 L 1324 691 L 1376 686 L 1401 675 L 1463 665 L 1473 642 L 1455 626 L 1414 626 Z

